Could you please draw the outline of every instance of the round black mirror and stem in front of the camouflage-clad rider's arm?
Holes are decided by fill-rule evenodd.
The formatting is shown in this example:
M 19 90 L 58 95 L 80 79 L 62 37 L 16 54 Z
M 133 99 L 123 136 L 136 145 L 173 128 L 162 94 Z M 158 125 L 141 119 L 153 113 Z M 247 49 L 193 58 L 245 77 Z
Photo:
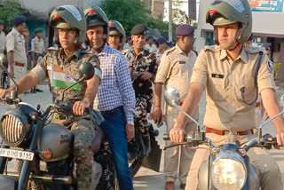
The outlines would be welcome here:
M 80 75 L 80 79 L 79 81 L 77 81 L 76 83 L 73 83 L 71 86 L 69 86 L 67 89 L 65 89 L 62 93 L 62 97 L 61 97 L 61 101 L 63 101 L 64 99 L 64 94 L 65 92 L 72 88 L 73 86 L 75 86 L 77 83 L 81 83 L 83 80 L 89 80 L 91 79 L 95 74 L 95 68 L 93 67 L 93 65 L 90 62 L 83 62 L 80 66 L 79 66 L 79 75 Z

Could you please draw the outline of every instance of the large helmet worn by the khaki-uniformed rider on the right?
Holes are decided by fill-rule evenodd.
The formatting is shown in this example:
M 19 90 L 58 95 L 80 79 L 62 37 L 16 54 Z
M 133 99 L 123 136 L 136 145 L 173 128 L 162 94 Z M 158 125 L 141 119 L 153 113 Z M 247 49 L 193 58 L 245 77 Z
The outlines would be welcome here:
M 206 22 L 214 27 L 214 40 L 218 44 L 217 26 L 241 23 L 236 36 L 240 44 L 248 42 L 252 30 L 252 15 L 248 0 L 215 0 L 207 11 Z

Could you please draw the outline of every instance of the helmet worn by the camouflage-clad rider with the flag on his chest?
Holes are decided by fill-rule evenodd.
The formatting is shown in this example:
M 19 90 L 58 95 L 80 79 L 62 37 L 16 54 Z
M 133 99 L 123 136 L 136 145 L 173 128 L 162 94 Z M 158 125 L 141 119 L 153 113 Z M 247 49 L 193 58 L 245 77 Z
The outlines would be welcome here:
M 52 28 L 78 29 L 75 44 L 80 46 L 86 39 L 87 23 L 83 11 L 75 5 L 61 5 L 51 12 L 50 25 Z M 59 44 L 57 30 L 55 30 L 55 42 Z

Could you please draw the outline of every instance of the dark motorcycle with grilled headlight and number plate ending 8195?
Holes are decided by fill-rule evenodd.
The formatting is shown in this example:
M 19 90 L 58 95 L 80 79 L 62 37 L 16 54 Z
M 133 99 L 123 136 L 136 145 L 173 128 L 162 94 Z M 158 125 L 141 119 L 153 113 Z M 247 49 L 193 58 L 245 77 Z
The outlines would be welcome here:
M 2 65 L 0 68 L 5 70 Z M 91 63 L 84 62 L 79 67 L 79 73 L 80 80 L 65 91 L 83 80 L 91 79 L 94 68 Z M 72 103 L 63 101 L 65 91 L 60 101 L 56 100 L 44 110 L 40 106 L 34 108 L 21 102 L 17 84 L 9 97 L 1 99 L 16 108 L 5 113 L 0 120 L 0 135 L 4 141 L 0 148 L 0 190 L 76 189 L 76 164 L 72 154 L 74 136 L 66 126 L 81 118 L 90 118 L 91 111 L 86 108 L 85 115 L 74 115 Z M 67 120 L 62 124 L 51 123 L 49 119 L 54 113 L 67 115 Z M 94 154 L 103 152 L 101 140 L 102 136 L 96 133 L 92 142 Z M 7 164 L 12 159 L 20 160 L 19 172 L 7 170 Z M 92 170 L 91 186 L 95 188 L 102 169 L 99 163 L 92 162 Z

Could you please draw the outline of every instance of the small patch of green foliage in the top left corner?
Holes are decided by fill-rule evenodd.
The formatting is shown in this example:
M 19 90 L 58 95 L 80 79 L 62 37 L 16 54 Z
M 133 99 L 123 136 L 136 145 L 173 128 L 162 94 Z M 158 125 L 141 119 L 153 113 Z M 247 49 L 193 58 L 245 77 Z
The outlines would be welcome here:
M 17 15 L 21 15 L 18 3 L 5 1 L 4 6 L 0 7 L 0 20 L 4 20 L 4 28 L 12 27 L 12 19 Z

